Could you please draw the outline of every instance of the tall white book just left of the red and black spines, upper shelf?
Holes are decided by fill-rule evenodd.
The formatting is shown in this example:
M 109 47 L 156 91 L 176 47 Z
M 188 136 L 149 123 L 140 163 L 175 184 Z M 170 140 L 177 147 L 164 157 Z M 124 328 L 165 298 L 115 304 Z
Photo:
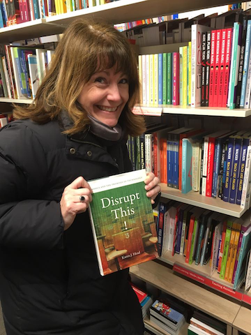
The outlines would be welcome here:
M 192 24 L 192 61 L 191 61 L 191 107 L 201 105 L 201 34 L 211 30 L 201 24 Z

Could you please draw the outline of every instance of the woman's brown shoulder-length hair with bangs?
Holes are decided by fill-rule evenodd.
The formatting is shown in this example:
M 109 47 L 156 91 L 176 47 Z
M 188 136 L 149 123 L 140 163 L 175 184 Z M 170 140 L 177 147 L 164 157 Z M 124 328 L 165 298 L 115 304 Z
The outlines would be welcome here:
M 65 133 L 86 130 L 90 121 L 77 98 L 94 73 L 113 66 L 129 78 L 129 100 L 119 123 L 127 134 L 136 136 L 144 133 L 144 119 L 132 114 L 132 107 L 139 96 L 135 52 L 114 27 L 87 20 L 76 20 L 66 29 L 50 68 L 38 87 L 36 98 L 28 107 L 15 105 L 14 117 L 45 124 L 59 118 L 61 110 L 67 110 L 74 125 Z

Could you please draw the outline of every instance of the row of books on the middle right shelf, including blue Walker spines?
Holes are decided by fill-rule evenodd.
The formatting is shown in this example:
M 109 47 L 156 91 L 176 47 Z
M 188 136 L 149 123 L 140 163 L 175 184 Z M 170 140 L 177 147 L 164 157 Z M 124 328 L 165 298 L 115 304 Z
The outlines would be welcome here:
M 250 132 L 160 128 L 128 138 L 134 170 L 146 168 L 182 193 L 195 191 L 250 207 Z

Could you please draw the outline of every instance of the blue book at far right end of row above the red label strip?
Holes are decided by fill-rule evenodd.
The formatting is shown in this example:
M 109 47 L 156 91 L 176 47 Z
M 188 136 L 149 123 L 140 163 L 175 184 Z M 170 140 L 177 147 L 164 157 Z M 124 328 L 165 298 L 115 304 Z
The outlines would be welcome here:
M 241 241 L 241 248 L 238 256 L 238 264 L 234 278 L 234 290 L 239 288 L 245 279 L 245 265 L 250 248 L 251 248 L 251 227 L 248 228 L 248 230 L 243 234 L 243 239 Z

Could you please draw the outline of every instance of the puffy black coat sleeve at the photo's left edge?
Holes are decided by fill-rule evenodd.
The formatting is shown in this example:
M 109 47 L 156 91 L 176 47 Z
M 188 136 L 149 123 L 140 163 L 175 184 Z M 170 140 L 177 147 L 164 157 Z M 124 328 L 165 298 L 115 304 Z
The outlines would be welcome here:
M 62 248 L 59 202 L 43 200 L 47 164 L 36 135 L 22 122 L 0 131 L 0 245 Z

